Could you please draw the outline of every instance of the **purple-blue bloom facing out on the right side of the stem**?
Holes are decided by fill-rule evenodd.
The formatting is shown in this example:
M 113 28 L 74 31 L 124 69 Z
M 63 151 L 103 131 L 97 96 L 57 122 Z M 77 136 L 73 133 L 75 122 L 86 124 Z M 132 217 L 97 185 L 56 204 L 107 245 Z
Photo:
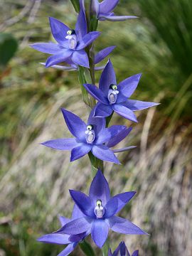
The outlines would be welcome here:
M 114 68 L 109 60 L 102 72 L 99 88 L 95 85 L 84 85 L 87 92 L 98 100 L 94 110 L 94 117 L 109 117 L 114 111 L 130 121 L 137 122 L 134 111 L 159 105 L 159 103 L 154 102 L 127 100 L 137 88 L 141 75 L 133 75 L 117 85 Z

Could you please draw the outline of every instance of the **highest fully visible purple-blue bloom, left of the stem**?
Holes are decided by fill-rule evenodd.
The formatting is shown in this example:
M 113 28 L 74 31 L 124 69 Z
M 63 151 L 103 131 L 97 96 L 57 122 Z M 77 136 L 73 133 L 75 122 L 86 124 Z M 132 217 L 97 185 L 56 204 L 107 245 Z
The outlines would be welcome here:
M 87 22 L 83 9 L 78 15 L 75 29 L 68 28 L 56 18 L 50 17 L 49 20 L 51 32 L 57 43 L 34 43 L 31 45 L 36 50 L 52 54 L 46 61 L 46 68 L 63 61 L 89 68 L 89 60 L 84 49 L 100 36 L 100 32 L 87 33 Z

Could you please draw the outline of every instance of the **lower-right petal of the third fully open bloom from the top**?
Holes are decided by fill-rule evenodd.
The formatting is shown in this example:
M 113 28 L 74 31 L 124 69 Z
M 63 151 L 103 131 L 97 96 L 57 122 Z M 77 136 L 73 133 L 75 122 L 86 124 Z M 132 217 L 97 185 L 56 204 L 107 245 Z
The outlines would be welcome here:
M 92 154 L 102 161 L 110 161 L 114 164 L 120 164 L 114 153 L 105 145 L 92 146 Z

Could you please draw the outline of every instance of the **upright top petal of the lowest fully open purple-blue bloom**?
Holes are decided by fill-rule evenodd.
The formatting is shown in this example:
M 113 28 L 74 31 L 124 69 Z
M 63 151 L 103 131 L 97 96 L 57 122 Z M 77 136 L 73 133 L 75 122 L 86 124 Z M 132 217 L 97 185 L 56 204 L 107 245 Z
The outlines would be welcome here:
M 96 204 L 97 200 L 100 199 L 103 206 L 110 200 L 109 184 L 100 170 L 97 171 L 97 174 L 92 180 L 89 195 L 93 203 Z

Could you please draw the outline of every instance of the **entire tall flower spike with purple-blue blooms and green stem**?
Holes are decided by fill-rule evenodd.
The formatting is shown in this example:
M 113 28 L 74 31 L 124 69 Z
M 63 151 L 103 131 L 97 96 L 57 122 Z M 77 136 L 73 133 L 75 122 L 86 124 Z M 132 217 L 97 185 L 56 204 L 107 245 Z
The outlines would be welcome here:
M 50 29 L 56 43 L 35 43 L 32 48 L 51 56 L 46 60 L 46 68 L 53 67 L 61 70 L 78 70 L 82 99 L 91 110 L 87 122 L 80 117 L 62 109 L 65 123 L 73 135 L 71 138 L 51 139 L 43 142 L 44 146 L 58 150 L 70 150 L 70 161 L 80 159 L 88 154 L 92 166 L 93 181 L 89 196 L 80 191 L 71 191 L 75 206 L 71 219 L 60 218 L 61 228 L 55 233 L 38 238 L 40 242 L 50 242 L 68 245 L 60 252 L 60 256 L 69 255 L 80 244 L 85 255 L 95 255 L 94 250 L 85 242 L 91 234 L 97 247 L 103 255 L 127 255 L 129 251 L 121 242 L 112 254 L 107 241 L 109 230 L 123 234 L 146 234 L 129 220 L 116 216 L 119 210 L 132 199 L 135 192 L 120 193 L 110 196 L 110 188 L 104 176 L 103 161 L 120 164 L 115 153 L 127 151 L 134 146 L 123 149 L 111 149 L 122 141 L 131 127 L 123 125 L 110 126 L 110 119 L 115 113 L 137 122 L 134 111 L 144 110 L 157 105 L 154 102 L 130 100 L 137 88 L 141 74 L 134 75 L 117 84 L 114 68 L 110 60 L 104 67 L 100 78 L 99 88 L 95 85 L 95 64 L 107 57 L 114 46 L 107 47 L 95 54 L 93 42 L 100 36 L 97 32 L 98 21 L 124 21 L 135 16 L 115 16 L 112 12 L 118 0 L 71 0 L 78 19 L 75 28 L 69 28 L 61 21 L 50 18 Z M 64 65 L 58 65 L 65 63 Z M 96 104 L 97 101 L 97 104 Z M 133 253 L 137 256 L 138 251 Z

